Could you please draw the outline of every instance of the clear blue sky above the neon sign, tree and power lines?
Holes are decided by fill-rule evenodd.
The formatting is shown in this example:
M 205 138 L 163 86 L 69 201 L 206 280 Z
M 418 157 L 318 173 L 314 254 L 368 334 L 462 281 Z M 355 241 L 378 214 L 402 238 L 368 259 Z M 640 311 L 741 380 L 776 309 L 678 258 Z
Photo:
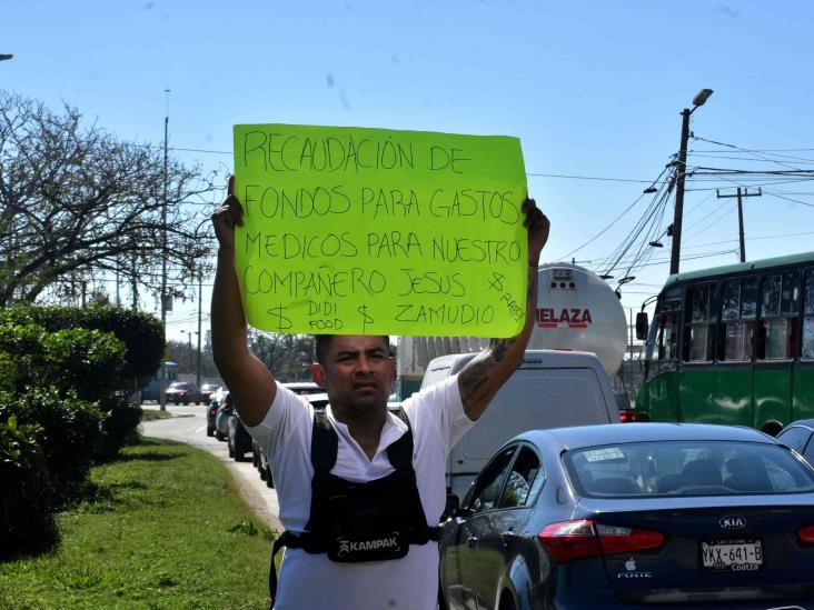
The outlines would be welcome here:
M 702 88 L 715 92 L 692 116 L 695 136 L 768 152 L 691 140 L 691 164 L 813 169 L 813 28 L 803 0 L 3 0 L 0 52 L 14 58 L 0 63 L 0 88 L 160 144 L 169 86 L 170 147 L 214 151 L 173 154 L 224 170 L 235 123 L 516 136 L 529 193 L 552 220 L 552 262 L 659 176 Z M 762 183 L 744 203 L 747 259 L 814 250 L 814 186 Z M 688 182 L 682 270 L 737 261 L 735 199 L 692 189 L 738 184 L 758 182 Z M 568 258 L 600 270 L 652 201 Z M 662 241 L 651 263 L 668 259 Z M 625 308 L 667 272 L 667 262 L 635 270 Z M 195 307 L 169 314 L 171 339 L 195 330 Z

